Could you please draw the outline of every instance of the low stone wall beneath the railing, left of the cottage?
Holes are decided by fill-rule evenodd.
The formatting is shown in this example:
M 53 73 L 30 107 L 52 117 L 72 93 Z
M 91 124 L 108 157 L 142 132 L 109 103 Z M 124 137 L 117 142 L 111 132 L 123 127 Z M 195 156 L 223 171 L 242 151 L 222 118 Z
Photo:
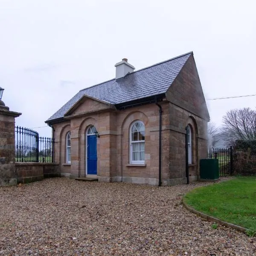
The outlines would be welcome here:
M 15 163 L 17 183 L 29 183 L 44 178 L 59 177 L 58 163 Z

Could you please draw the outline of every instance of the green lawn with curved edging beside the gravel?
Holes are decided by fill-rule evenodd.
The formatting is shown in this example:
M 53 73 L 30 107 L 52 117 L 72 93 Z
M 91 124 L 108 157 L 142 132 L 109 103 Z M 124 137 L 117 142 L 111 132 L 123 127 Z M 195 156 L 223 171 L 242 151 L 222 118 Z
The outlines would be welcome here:
M 237 177 L 193 189 L 184 200 L 198 211 L 256 230 L 256 177 Z

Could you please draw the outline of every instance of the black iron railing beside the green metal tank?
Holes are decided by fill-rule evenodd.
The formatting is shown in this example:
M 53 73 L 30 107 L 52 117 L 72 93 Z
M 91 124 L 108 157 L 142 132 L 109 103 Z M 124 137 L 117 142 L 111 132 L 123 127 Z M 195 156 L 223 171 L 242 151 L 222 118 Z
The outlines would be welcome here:
M 219 174 L 226 177 L 233 174 L 233 148 L 212 148 L 211 158 L 218 159 Z

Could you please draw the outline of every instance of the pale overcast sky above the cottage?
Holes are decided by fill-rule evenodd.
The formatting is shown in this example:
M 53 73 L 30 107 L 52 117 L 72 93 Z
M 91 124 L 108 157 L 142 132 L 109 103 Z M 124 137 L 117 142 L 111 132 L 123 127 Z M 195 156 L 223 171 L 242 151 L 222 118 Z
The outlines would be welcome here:
M 193 51 L 205 98 L 256 94 L 256 1 L 0 0 L 0 86 L 16 125 L 45 120 L 79 90 Z M 256 96 L 207 101 L 221 125 Z

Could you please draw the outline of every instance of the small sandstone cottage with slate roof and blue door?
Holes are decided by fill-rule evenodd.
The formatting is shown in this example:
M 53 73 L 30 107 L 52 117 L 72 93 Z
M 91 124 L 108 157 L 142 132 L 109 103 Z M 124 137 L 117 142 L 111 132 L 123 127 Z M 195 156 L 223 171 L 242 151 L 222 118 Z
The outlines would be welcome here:
M 61 176 L 153 185 L 197 180 L 209 113 L 193 52 L 137 71 L 124 58 L 115 68 L 114 79 L 80 90 L 46 121 Z

